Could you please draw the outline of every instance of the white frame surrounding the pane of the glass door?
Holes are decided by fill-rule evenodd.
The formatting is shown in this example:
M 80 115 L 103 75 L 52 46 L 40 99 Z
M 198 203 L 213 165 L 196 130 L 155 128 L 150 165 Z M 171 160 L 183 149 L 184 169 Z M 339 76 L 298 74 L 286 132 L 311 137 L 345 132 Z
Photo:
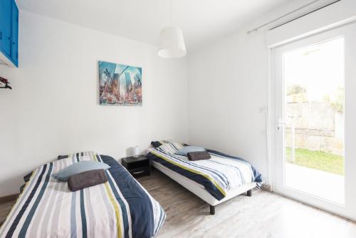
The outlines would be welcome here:
M 345 36 L 345 205 L 337 205 L 333 202 L 327 200 L 320 200 L 320 198 L 313 197 L 310 195 L 303 194 L 301 192 L 293 192 L 292 190 L 286 192 L 286 190 L 281 190 L 280 187 L 276 186 L 276 181 L 281 181 L 281 175 L 283 173 L 278 170 L 281 167 L 281 151 L 278 151 L 278 138 L 283 138 L 280 133 L 283 130 L 277 129 L 279 115 L 277 113 L 281 108 L 277 108 L 278 97 L 283 95 L 281 90 L 277 91 L 276 78 L 281 70 L 277 71 L 276 63 L 276 51 L 283 47 L 288 47 L 288 45 L 305 46 L 306 42 L 315 41 L 315 43 L 320 41 L 325 41 L 328 38 L 335 38 L 337 36 Z M 352 41 L 353 39 L 353 41 Z M 276 48 L 270 49 L 270 83 L 268 92 L 268 155 L 271 156 L 269 159 L 269 178 L 271 181 L 272 190 L 287 197 L 292 197 L 295 200 L 305 202 L 309 205 L 319 207 L 321 209 L 328 210 L 335 214 L 340 214 L 343 217 L 356 220 L 356 24 L 345 24 L 344 26 L 337 27 L 336 29 L 330 29 L 322 33 L 318 33 L 314 36 L 308 36 L 306 38 L 300 39 L 293 43 L 288 43 L 284 46 L 278 46 Z M 353 46 L 352 46 L 353 45 Z M 278 59 L 277 59 L 278 60 Z M 281 60 L 281 58 L 280 58 Z M 281 88 L 281 85 L 279 85 Z M 278 94 L 279 93 L 279 94 Z M 280 104 L 281 106 L 282 104 Z M 355 160 L 353 160 L 355 158 Z M 353 161 L 352 161 L 353 160 Z M 278 171 L 277 171 L 278 170 Z

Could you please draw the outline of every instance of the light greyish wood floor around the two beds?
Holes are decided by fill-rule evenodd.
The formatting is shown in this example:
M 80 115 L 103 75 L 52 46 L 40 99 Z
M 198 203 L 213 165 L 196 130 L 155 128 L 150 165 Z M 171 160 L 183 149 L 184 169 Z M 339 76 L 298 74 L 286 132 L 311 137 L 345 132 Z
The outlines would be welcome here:
M 235 197 L 216 206 L 213 216 L 209 205 L 157 170 L 138 180 L 167 214 L 159 238 L 356 237 L 354 222 L 272 192 Z M 0 224 L 13 204 L 0 204 Z

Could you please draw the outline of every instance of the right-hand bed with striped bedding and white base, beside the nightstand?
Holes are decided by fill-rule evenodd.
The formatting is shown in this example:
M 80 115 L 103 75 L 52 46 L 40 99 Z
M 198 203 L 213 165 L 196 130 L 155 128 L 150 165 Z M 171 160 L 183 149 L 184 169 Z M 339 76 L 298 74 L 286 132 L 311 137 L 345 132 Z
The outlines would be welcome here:
M 263 184 L 261 174 L 239 157 L 207 150 L 211 159 L 189 161 L 187 157 L 175 155 L 185 144 L 159 141 L 153 143 L 147 157 L 152 166 L 178 182 L 210 205 L 210 213 L 215 214 L 215 206 L 237 195 Z

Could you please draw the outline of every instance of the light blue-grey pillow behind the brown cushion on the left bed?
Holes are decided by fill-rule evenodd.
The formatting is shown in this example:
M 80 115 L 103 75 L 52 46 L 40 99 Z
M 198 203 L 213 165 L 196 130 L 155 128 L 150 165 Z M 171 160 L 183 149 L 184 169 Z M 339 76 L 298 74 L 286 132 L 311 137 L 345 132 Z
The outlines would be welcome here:
M 76 175 L 80 172 L 85 172 L 88 170 L 108 170 L 110 166 L 103 162 L 95 162 L 95 161 L 79 161 L 73 165 L 65 167 L 63 170 L 58 171 L 56 174 L 53 174 L 56 180 L 67 181 L 68 177 L 71 175 Z

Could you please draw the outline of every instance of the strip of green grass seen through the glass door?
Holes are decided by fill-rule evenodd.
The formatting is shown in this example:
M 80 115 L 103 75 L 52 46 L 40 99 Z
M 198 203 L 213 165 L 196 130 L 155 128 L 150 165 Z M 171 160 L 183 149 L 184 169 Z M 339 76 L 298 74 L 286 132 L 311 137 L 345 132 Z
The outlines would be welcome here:
M 286 148 L 286 161 L 290 160 L 290 148 Z M 344 159 L 340 155 L 329 152 L 313 151 L 307 149 L 295 149 L 295 165 L 310 167 L 315 170 L 332 172 L 337 175 L 344 175 Z

